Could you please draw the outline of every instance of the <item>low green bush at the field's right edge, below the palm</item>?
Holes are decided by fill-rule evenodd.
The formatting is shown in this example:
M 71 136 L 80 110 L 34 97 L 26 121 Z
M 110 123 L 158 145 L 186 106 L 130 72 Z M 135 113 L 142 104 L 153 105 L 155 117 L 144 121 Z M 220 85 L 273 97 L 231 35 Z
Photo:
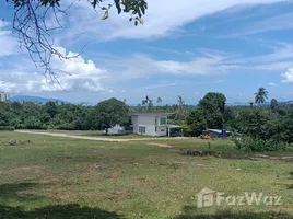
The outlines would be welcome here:
M 238 150 L 251 151 L 251 152 L 268 152 L 268 151 L 279 151 L 285 150 L 289 145 L 286 142 L 277 140 L 262 140 L 253 139 L 249 137 L 242 137 L 242 139 L 234 140 Z

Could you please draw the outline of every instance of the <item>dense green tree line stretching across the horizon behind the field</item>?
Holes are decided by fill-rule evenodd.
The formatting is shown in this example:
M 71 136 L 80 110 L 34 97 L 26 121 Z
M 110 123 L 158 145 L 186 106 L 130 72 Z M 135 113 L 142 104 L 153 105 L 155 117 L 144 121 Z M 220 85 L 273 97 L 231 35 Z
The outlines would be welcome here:
M 145 96 L 141 104 L 129 106 L 126 100 L 109 99 L 95 106 L 47 102 L 37 104 L 0 103 L 0 127 L 16 129 L 63 129 L 63 130 L 106 130 L 115 125 L 130 126 L 133 112 L 171 112 L 171 124 L 183 126 L 185 136 L 199 136 L 206 128 L 225 128 L 243 135 L 237 142 L 242 149 L 251 149 L 251 142 L 282 146 L 293 142 L 293 105 L 280 104 L 268 92 L 260 88 L 255 93 L 255 101 L 247 106 L 227 106 L 222 93 L 207 93 L 198 105 L 187 105 L 183 96 L 177 104 L 163 105 L 162 97 L 156 103 Z M 248 140 L 247 140 L 248 139 Z M 239 145 L 242 143 L 242 145 Z M 259 146 L 258 146 L 259 148 Z M 273 150 L 273 147 L 272 149 Z

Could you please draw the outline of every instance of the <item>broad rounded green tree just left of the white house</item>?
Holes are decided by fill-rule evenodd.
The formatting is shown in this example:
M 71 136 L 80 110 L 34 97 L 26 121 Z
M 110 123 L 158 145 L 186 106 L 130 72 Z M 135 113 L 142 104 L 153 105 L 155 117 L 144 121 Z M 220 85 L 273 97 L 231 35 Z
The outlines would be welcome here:
M 98 103 L 93 112 L 94 126 L 99 130 L 106 130 L 116 125 L 125 125 L 129 122 L 127 105 L 117 99 L 109 99 Z

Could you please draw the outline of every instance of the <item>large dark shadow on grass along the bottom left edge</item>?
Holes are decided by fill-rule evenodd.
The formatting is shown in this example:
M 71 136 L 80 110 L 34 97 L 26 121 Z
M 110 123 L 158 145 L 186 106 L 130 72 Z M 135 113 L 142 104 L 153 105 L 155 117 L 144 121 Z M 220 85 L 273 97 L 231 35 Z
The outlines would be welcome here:
M 0 205 L 0 218 L 30 218 L 30 219 L 122 219 L 116 212 L 109 212 L 98 208 L 81 207 L 77 204 L 54 205 L 26 211 L 21 207 Z

